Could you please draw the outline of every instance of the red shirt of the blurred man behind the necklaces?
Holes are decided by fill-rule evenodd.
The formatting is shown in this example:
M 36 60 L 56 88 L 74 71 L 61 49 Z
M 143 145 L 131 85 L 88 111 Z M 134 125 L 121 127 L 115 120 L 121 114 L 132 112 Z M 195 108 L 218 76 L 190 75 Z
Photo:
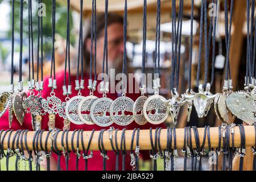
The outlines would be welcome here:
M 55 94 L 56 97 L 60 98 L 61 101 L 65 101 L 65 97 L 63 96 L 63 90 L 62 90 L 62 86 L 63 86 L 63 80 L 64 80 L 64 72 L 59 72 L 56 73 L 56 80 L 57 80 L 57 89 L 55 90 Z M 75 76 L 71 76 L 71 85 L 72 85 L 72 96 L 77 96 L 78 91 L 75 90 L 75 80 L 76 77 Z M 85 89 L 81 90 L 82 96 L 89 96 L 89 90 L 87 89 L 87 85 L 88 85 L 88 75 L 85 75 L 84 77 L 85 83 Z M 68 76 L 67 76 L 67 82 L 68 82 Z M 100 81 L 98 81 L 99 84 Z M 127 89 L 128 90 L 128 89 Z M 42 97 L 43 98 L 47 98 L 50 96 L 51 93 L 51 88 L 48 88 L 48 78 L 46 78 L 44 80 L 44 89 L 42 92 Z M 101 93 L 98 92 L 94 92 L 94 96 L 97 97 L 102 97 Z M 130 97 L 131 99 L 133 99 L 134 101 L 140 96 L 139 94 L 126 94 L 127 97 Z M 112 100 L 115 100 L 115 98 L 117 98 L 117 93 L 108 93 L 107 94 L 108 98 L 111 98 Z M 8 112 L 6 111 L 6 113 L 0 118 L 0 129 L 1 130 L 7 130 L 9 129 L 9 122 L 8 122 Z M 48 130 L 48 114 L 46 114 L 45 116 L 43 116 L 42 119 L 42 130 Z M 146 125 L 143 126 L 139 126 L 137 125 L 137 123 L 133 122 L 128 126 L 118 126 L 116 124 L 113 124 L 112 126 L 114 126 L 115 129 L 119 129 L 122 130 L 123 128 L 127 129 L 127 130 L 133 130 L 134 128 L 140 128 L 140 129 L 149 129 L 150 127 L 155 128 L 155 127 L 165 127 L 164 125 L 151 125 L 150 123 L 146 123 Z M 58 129 L 63 129 L 63 118 L 60 118 L 59 115 L 56 115 L 56 120 L 55 120 L 55 127 L 57 127 Z M 24 122 L 23 125 L 20 126 L 19 122 L 16 120 L 16 118 L 14 117 L 13 119 L 13 124 L 11 126 L 11 129 L 13 130 L 31 130 L 32 131 L 32 125 L 31 125 L 31 114 L 26 114 L 25 118 L 24 118 Z M 83 130 L 87 130 L 87 131 L 91 131 L 93 129 L 95 129 L 96 131 L 103 129 L 103 127 L 97 126 L 97 125 L 75 125 L 73 123 L 71 123 L 70 125 L 70 130 L 76 130 L 76 129 L 83 129 Z M 105 129 L 109 129 L 109 127 L 105 127 Z M 148 151 L 140 151 L 140 153 L 142 154 L 142 158 L 144 159 L 148 159 L 149 157 L 149 152 Z M 55 160 L 57 160 L 57 155 L 53 154 L 53 158 L 55 158 Z M 108 156 L 109 156 L 109 160 L 106 161 L 106 170 L 109 171 L 114 171 L 115 170 L 115 154 L 113 151 L 108 151 Z M 131 170 L 131 166 L 130 166 L 130 155 L 129 155 L 129 151 L 127 151 L 126 154 L 126 170 Z M 61 156 L 61 169 L 65 170 L 65 159 L 64 156 Z M 84 170 L 85 169 L 85 162 L 82 158 L 80 158 L 79 160 L 79 170 Z M 122 155 L 119 155 L 119 170 L 122 169 Z M 73 152 L 71 152 L 71 156 L 69 159 L 69 170 L 76 170 L 76 155 L 73 154 Z M 88 159 L 88 170 L 102 170 L 102 156 L 100 155 L 100 151 L 93 151 L 93 158 Z

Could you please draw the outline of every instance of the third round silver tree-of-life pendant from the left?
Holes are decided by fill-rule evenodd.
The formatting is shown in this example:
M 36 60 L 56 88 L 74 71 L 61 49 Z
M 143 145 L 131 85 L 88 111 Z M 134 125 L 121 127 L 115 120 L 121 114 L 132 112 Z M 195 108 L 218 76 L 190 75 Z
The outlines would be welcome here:
M 113 100 L 110 98 L 102 97 L 93 102 L 90 108 L 90 117 L 98 126 L 106 127 L 112 125 L 114 122 L 110 117 L 110 106 Z

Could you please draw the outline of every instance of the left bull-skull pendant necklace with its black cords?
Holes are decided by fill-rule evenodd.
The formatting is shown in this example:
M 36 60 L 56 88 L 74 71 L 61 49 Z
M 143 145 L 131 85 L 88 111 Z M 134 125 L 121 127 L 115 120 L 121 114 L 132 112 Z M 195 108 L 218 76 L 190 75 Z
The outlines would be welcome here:
M 172 1 L 172 74 L 171 74 L 171 93 L 172 98 L 166 104 L 170 107 L 172 121 L 176 125 L 180 107 L 188 102 L 188 113 L 190 115 L 192 109 L 192 101 L 185 100 L 184 96 L 179 97 L 177 90 L 179 89 L 179 69 L 180 69 L 180 47 L 181 47 L 181 32 L 183 20 L 183 0 L 180 1 L 179 14 L 177 19 L 176 29 L 176 1 Z M 179 47 L 177 47 L 179 45 Z M 176 77 L 176 81 L 175 81 Z M 174 84 L 176 87 L 174 87 Z M 188 117 L 189 118 L 189 117 Z

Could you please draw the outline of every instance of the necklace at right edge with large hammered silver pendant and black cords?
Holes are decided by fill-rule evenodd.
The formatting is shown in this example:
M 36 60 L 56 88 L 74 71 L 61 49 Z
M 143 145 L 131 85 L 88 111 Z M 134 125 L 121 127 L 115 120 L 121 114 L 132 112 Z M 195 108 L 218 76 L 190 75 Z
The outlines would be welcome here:
M 254 6 L 251 6 L 251 11 L 254 12 Z M 226 98 L 226 105 L 232 114 L 236 115 L 237 118 L 248 124 L 256 123 L 256 97 L 255 97 L 255 78 L 254 78 L 254 67 L 255 66 L 255 37 L 253 46 L 253 28 L 250 32 L 250 1 L 247 1 L 247 54 L 246 54 L 246 76 L 245 76 L 245 91 L 241 90 L 230 94 Z M 253 27 L 253 18 L 251 16 L 251 27 Z M 255 35 L 255 32 L 254 32 Z M 253 62 L 253 63 L 252 63 Z M 253 66 L 252 66 L 253 64 Z

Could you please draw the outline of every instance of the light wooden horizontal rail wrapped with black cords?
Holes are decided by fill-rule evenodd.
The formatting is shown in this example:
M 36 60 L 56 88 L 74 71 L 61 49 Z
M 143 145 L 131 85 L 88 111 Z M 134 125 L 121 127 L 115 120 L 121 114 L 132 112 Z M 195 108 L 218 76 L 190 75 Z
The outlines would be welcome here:
M 203 142 L 203 136 L 204 136 L 204 128 L 198 128 L 199 131 L 199 137 L 200 137 L 200 145 Z M 234 145 L 235 147 L 240 147 L 240 130 L 239 127 L 234 127 Z M 43 142 L 43 147 L 44 147 L 44 143 L 45 143 L 45 139 L 46 139 L 46 134 L 48 131 L 44 131 L 43 135 L 42 135 L 42 142 Z M 63 131 L 60 131 L 59 134 L 57 135 L 57 147 L 59 150 L 62 151 L 62 147 L 61 147 L 61 133 Z M 71 136 L 72 136 L 73 131 L 69 131 L 68 133 L 68 147 L 69 150 L 71 150 Z M 94 131 L 94 135 L 92 138 L 92 142 L 90 144 L 90 150 L 98 150 L 98 135 L 99 135 L 100 131 Z M 125 139 L 126 139 L 126 150 L 130 150 L 130 144 L 131 144 L 131 135 L 133 133 L 133 130 L 126 130 L 125 131 Z M 136 132 L 137 133 L 137 132 Z M 135 137 L 134 137 L 134 144 L 133 144 L 133 149 L 135 150 L 136 147 L 136 133 L 135 133 Z M 13 141 L 13 136 L 15 134 L 15 131 L 13 131 L 13 133 L 11 134 L 11 138 L 10 141 Z M 33 140 L 33 136 L 35 134 L 35 131 L 28 131 L 27 133 L 27 144 L 28 144 L 28 148 L 30 150 L 32 150 L 32 140 Z M 90 134 L 91 131 L 84 131 L 83 133 L 83 138 L 84 138 L 84 146 L 85 148 L 88 145 L 88 141 L 90 138 Z M 117 143 L 118 146 L 120 147 L 121 144 L 121 134 L 122 131 L 118 130 L 117 131 Z M 155 130 L 152 130 L 152 136 L 153 136 L 153 140 L 154 140 L 154 135 L 155 134 Z M 195 137 L 193 134 L 193 129 L 191 129 L 191 134 L 192 134 L 192 144 L 193 147 L 195 147 Z M 50 134 L 51 135 L 51 134 Z M 66 134 L 65 134 L 66 135 Z M 65 135 L 64 135 L 64 146 L 65 146 Z M 113 131 L 113 143 L 115 146 L 115 139 L 114 139 L 114 135 L 115 135 L 115 131 Z M 9 136 L 9 133 L 7 133 L 5 139 L 3 140 L 3 148 L 5 150 L 7 150 L 7 138 Z M 74 137 L 74 147 L 76 148 L 76 137 L 77 133 L 75 134 Z M 2 134 L 3 137 L 3 134 Z M 112 150 L 111 144 L 110 144 L 110 139 L 109 139 L 109 133 L 107 131 L 104 132 L 104 147 L 105 150 Z M 246 137 L 246 146 L 254 146 L 255 145 L 255 129 L 254 126 L 245 126 L 245 137 Z M 176 129 L 176 142 L 177 142 L 177 148 L 181 149 L 183 148 L 183 144 L 184 144 L 184 129 Z M 2 140 L 2 139 L 1 139 Z M 173 141 L 174 137 L 172 137 L 172 147 L 174 146 Z M 160 144 L 162 149 L 166 148 L 167 146 L 167 129 L 162 129 L 161 133 L 160 133 Z M 210 128 L 210 144 L 211 147 L 216 148 L 218 147 L 218 127 L 211 127 Z M 230 146 L 232 144 L 232 138 L 231 138 L 231 133 L 230 133 Z M 82 150 L 82 146 L 81 146 L 81 139 L 79 137 L 79 145 L 80 145 L 80 150 Z M 222 145 L 222 141 L 221 141 L 221 145 Z M 11 142 L 10 142 L 10 146 L 11 146 Z M 24 136 L 23 136 L 23 146 L 25 147 L 24 144 Z M 150 130 L 141 130 L 139 132 L 139 146 L 141 147 L 141 150 L 151 150 L 151 144 L 150 144 Z M 48 138 L 48 150 L 51 150 L 51 138 Z M 208 138 L 206 137 L 205 140 L 205 148 L 208 147 Z M 120 149 L 120 148 L 119 148 Z M 42 150 L 39 146 L 39 150 Z

